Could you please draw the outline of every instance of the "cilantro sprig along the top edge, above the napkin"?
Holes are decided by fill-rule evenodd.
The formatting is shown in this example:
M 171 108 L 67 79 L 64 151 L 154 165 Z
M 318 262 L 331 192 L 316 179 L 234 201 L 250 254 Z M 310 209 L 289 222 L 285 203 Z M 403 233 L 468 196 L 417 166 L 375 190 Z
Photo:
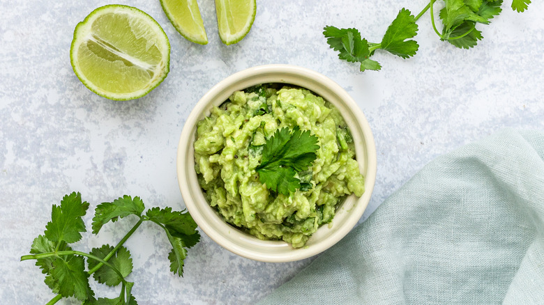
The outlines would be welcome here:
M 432 28 L 440 40 L 448 41 L 455 47 L 469 49 L 477 45 L 483 38 L 477 24 L 490 24 L 491 19 L 502 11 L 503 0 L 444 0 L 444 8 L 441 8 L 439 19 L 442 30 L 437 29 L 435 22 L 434 6 L 437 0 L 430 2 L 414 16 L 406 8 L 402 8 L 397 17 L 388 26 L 381 42 L 368 42 L 362 38 L 357 29 L 338 29 L 335 26 L 325 26 L 323 35 L 327 43 L 338 52 L 342 60 L 359 63 L 360 70 L 381 70 L 377 61 L 370 59 L 377 49 L 382 49 L 404 59 L 414 56 L 419 45 L 416 40 L 418 25 L 416 22 L 428 10 Z M 527 9 L 531 0 L 513 0 L 511 8 L 518 13 Z

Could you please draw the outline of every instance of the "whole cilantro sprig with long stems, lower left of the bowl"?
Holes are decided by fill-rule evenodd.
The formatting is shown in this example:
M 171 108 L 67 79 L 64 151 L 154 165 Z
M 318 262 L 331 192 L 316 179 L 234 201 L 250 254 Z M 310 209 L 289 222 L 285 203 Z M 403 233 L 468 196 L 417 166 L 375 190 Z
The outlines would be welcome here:
M 47 304 L 55 304 L 63 297 L 75 297 L 86 305 L 116 304 L 135 305 L 132 295 L 133 282 L 126 277 L 133 271 L 130 251 L 123 247 L 144 221 L 152 221 L 165 230 L 172 251 L 169 253 L 170 270 L 183 276 L 183 260 L 187 249 L 199 242 L 197 224 L 187 212 L 172 211 L 172 208 L 151 208 L 144 213 L 145 205 L 139 197 L 123 196 L 109 203 L 100 203 L 95 209 L 92 229 L 98 234 L 109 221 L 115 222 L 133 215 L 138 221 L 128 233 L 112 247 L 105 244 L 93 248 L 89 253 L 73 250 L 69 244 L 82 239 L 86 232 L 83 218 L 89 203 L 82 201 L 81 194 L 73 192 L 62 198 L 60 205 L 53 205 L 51 221 L 45 226 L 43 235 L 34 239 L 30 255 L 21 260 L 36 260 L 36 266 L 45 274 L 45 283 L 57 295 Z M 89 269 L 85 269 L 85 260 Z M 119 297 L 96 299 L 89 286 L 89 276 L 107 286 L 119 286 Z

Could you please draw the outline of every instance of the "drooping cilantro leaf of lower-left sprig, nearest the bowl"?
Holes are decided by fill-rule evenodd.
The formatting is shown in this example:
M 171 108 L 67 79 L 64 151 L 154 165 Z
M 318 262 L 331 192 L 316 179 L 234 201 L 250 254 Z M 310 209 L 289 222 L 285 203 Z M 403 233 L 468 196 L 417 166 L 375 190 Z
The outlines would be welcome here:
M 172 251 L 168 254 L 170 271 L 183 276 L 183 260 L 187 257 L 187 249 L 199 242 L 200 234 L 196 230 L 197 223 L 188 212 L 172 211 L 172 208 L 152 208 L 147 210 L 149 220 L 164 228 Z

